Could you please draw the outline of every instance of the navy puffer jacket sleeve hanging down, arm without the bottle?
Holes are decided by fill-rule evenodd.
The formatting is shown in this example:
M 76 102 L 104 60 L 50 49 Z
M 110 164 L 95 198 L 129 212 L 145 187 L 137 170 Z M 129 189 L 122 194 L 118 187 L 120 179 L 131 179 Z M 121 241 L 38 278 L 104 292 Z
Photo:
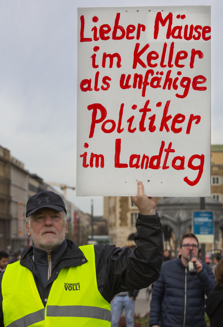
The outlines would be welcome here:
M 152 299 L 150 303 L 149 326 L 158 325 L 161 315 L 161 306 L 164 297 L 165 280 L 164 269 L 161 269 L 160 278 L 154 283 L 152 288 Z

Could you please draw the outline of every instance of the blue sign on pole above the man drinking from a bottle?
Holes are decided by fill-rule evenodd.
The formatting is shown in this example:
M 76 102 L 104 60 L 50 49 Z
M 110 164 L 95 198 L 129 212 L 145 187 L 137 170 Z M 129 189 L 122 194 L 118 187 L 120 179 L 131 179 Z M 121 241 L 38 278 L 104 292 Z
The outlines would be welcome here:
M 212 211 L 194 211 L 193 229 L 196 235 L 213 235 L 214 223 Z

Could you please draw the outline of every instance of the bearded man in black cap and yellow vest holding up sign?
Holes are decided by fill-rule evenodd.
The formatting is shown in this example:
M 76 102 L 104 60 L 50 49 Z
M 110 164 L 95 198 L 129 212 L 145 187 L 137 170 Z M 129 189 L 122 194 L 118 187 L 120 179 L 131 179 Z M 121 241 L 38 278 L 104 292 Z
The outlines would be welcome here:
M 155 203 L 138 182 L 132 201 L 140 213 L 135 250 L 115 245 L 77 247 L 65 238 L 66 208 L 54 192 L 27 202 L 26 229 L 33 245 L 0 274 L 2 326 L 110 326 L 115 294 L 147 287 L 160 273 L 162 225 Z M 3 323 L 4 318 L 4 323 Z

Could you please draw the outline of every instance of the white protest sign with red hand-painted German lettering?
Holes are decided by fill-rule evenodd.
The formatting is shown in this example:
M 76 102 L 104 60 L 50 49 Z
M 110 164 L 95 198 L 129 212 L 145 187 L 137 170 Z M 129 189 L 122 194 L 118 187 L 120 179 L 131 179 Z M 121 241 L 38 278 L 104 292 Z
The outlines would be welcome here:
M 78 8 L 79 196 L 210 196 L 210 7 Z

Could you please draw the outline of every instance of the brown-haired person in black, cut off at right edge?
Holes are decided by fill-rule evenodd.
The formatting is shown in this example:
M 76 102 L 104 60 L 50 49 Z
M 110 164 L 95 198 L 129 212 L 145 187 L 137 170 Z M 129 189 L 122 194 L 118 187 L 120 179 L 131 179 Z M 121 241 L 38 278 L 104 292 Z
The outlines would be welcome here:
M 210 318 L 211 327 L 222 327 L 223 319 L 223 259 L 220 259 L 215 268 L 215 288 L 205 300 L 205 311 Z

